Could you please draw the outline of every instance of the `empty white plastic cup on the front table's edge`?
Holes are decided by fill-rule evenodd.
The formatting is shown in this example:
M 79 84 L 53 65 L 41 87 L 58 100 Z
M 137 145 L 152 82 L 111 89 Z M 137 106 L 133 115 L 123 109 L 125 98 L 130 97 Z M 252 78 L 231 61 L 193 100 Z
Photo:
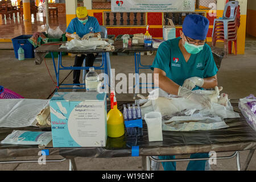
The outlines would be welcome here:
M 163 141 L 162 114 L 152 111 L 144 115 L 147 123 L 147 135 L 150 142 Z

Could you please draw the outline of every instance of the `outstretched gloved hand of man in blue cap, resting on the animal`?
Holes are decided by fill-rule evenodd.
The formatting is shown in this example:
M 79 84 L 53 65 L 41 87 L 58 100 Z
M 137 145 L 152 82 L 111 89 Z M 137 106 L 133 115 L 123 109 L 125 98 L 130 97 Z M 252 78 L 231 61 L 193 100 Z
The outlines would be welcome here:
M 204 94 L 192 92 L 184 86 L 179 87 L 178 96 L 187 98 L 188 100 L 191 100 L 193 102 L 197 102 L 203 107 L 207 107 L 209 109 L 212 107 L 212 102 L 210 101 L 209 97 L 205 96 Z

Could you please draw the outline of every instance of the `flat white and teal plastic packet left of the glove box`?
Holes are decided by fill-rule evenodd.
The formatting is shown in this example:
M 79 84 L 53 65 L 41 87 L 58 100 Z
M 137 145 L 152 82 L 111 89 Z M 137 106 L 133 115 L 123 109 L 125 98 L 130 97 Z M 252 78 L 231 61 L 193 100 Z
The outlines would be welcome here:
M 2 144 L 38 144 L 47 146 L 52 140 L 51 131 L 20 131 L 14 130 L 8 135 Z

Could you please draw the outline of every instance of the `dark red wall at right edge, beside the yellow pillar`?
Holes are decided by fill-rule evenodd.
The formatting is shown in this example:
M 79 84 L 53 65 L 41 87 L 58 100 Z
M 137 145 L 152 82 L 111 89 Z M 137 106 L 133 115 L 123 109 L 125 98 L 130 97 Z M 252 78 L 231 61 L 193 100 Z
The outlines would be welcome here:
M 246 33 L 256 37 L 256 1 L 248 0 Z

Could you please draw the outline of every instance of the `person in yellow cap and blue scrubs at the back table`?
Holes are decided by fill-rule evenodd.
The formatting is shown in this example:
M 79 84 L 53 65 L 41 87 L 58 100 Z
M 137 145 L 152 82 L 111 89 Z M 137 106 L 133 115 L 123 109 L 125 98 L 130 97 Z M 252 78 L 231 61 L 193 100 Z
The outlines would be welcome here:
M 98 20 L 88 15 L 88 11 L 86 7 L 77 7 L 76 9 L 76 18 L 72 19 L 71 22 L 68 25 L 68 28 L 66 30 L 66 36 L 68 38 L 72 39 L 89 39 L 90 37 L 98 37 L 100 38 L 100 32 L 101 27 L 98 23 Z M 76 32 L 76 34 L 74 34 Z M 86 60 L 85 60 L 85 66 L 86 67 L 92 67 L 93 62 L 95 60 L 94 54 L 87 54 Z M 77 56 L 75 57 L 75 64 L 74 67 L 81 67 L 82 62 L 85 59 L 85 55 Z M 80 86 L 80 69 L 73 71 L 73 84 L 76 84 L 73 86 L 73 91 L 76 91 L 76 88 L 79 88 Z M 86 70 L 88 72 L 88 70 Z

